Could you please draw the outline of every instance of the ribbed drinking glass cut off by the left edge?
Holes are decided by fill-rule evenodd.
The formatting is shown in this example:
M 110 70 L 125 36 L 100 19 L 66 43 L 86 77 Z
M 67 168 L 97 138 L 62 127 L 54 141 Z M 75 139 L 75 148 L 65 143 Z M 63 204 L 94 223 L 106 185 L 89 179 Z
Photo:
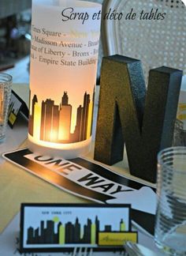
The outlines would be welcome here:
M 12 77 L 7 73 L 0 73 L 0 141 L 6 137 L 11 85 Z

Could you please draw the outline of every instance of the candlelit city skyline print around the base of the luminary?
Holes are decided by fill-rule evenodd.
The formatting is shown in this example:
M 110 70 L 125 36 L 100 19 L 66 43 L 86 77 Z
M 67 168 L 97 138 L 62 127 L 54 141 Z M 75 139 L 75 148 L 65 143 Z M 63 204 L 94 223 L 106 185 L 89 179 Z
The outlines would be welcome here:
M 80 97 L 79 104 L 73 104 L 68 91 L 64 91 L 61 102 L 57 104 L 58 100 L 50 99 L 50 97 L 41 99 L 34 94 L 30 99 L 29 135 L 36 141 L 60 144 L 89 139 L 95 89 L 92 95 L 85 91 Z

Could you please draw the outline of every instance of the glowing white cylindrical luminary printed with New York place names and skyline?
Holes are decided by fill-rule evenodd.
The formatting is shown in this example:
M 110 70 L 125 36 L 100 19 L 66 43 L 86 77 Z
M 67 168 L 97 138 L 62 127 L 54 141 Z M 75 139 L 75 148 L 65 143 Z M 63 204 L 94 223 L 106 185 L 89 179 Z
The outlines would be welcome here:
M 28 148 L 70 159 L 89 151 L 102 6 L 32 1 Z

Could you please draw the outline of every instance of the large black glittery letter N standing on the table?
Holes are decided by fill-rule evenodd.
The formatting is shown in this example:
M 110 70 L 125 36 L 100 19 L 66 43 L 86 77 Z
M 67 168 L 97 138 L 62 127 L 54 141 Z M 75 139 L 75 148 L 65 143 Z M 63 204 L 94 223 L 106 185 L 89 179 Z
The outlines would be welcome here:
M 182 71 L 150 70 L 146 93 L 141 62 L 103 58 L 95 160 L 115 164 L 126 146 L 132 175 L 156 182 L 157 154 L 172 145 Z

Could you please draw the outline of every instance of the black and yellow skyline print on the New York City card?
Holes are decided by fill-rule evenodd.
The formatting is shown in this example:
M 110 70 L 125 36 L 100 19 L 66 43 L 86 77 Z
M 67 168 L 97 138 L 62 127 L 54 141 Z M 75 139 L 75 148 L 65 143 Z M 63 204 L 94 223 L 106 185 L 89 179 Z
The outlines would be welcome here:
M 99 232 L 125 232 L 126 224 L 124 218 L 118 220 L 117 229 L 112 227 L 109 222 L 100 228 L 99 217 L 95 214 L 94 218 L 88 218 L 84 224 L 76 216 L 74 221 L 60 220 L 54 216 L 53 220 L 40 220 L 38 227 L 27 228 L 26 244 L 58 244 L 61 246 L 70 244 L 99 244 Z M 55 230 L 57 230 L 55 232 Z

